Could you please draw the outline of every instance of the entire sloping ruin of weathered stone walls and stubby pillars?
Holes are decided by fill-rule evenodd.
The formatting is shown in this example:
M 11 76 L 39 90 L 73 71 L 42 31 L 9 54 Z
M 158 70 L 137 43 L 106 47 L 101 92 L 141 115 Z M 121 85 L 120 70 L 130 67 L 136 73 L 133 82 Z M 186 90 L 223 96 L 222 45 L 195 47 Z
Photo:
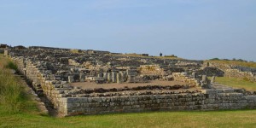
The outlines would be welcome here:
M 38 46 L 4 50 L 38 95 L 46 96 L 63 116 L 256 107 L 256 96 L 245 90 L 214 88 L 215 76 L 222 76 L 223 72 L 217 67 L 203 67 L 203 61 Z M 212 80 L 207 75 L 213 76 Z M 156 84 L 150 84 L 152 81 Z M 184 84 L 168 85 L 169 81 Z M 83 89 L 73 83 L 96 85 Z M 125 86 L 98 88 L 101 84 Z

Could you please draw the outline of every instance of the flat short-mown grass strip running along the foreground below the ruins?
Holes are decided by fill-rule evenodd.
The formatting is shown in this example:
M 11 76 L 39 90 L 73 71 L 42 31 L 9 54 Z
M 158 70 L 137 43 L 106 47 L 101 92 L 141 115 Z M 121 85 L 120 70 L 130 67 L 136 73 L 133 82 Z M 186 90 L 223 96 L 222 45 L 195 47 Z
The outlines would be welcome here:
M 0 127 L 255 127 L 256 110 L 120 113 L 52 118 L 0 113 Z

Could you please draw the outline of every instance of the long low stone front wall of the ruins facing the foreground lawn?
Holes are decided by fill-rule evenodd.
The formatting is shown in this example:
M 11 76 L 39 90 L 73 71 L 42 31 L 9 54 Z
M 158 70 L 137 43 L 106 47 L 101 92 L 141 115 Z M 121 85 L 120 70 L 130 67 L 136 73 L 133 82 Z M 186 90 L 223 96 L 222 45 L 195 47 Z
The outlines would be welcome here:
M 148 96 L 66 97 L 61 98 L 65 115 L 127 113 L 176 110 L 221 110 L 256 108 L 256 96 L 245 96 L 234 90 L 202 90 Z

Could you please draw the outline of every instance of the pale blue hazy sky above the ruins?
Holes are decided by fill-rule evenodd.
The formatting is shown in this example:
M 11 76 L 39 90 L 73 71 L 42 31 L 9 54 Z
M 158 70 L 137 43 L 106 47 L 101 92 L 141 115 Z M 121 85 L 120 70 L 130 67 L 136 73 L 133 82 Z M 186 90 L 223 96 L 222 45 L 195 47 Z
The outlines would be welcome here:
M 0 44 L 256 61 L 256 0 L 0 0 Z

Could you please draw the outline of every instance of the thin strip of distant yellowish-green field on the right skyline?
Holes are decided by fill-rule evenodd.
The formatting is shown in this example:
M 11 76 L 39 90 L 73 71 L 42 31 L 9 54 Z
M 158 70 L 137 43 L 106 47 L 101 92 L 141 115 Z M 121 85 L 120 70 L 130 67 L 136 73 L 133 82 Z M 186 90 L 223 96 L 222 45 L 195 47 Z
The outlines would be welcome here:
M 256 62 L 246 62 L 246 61 L 224 61 L 224 60 L 216 60 L 216 61 L 208 61 L 208 62 L 215 62 L 215 63 L 224 63 L 242 67 L 254 67 L 256 68 Z

